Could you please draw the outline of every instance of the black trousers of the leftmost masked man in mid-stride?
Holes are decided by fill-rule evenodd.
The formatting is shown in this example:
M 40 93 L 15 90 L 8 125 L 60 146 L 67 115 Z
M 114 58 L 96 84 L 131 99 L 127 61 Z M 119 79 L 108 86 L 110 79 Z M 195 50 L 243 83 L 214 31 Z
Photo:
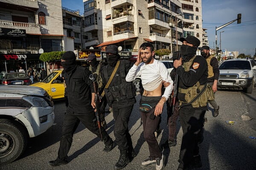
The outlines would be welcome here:
M 66 113 L 64 122 L 62 125 L 61 141 L 58 150 L 58 160 L 67 161 L 67 153 L 70 150 L 73 142 L 74 127 L 77 126 L 77 120 L 80 120 L 84 126 L 92 133 L 101 138 L 99 128 L 96 122 L 96 116 L 94 112 L 90 113 Z M 106 146 L 110 145 L 113 141 L 108 136 L 108 133 L 104 128 L 101 128 L 103 142 Z

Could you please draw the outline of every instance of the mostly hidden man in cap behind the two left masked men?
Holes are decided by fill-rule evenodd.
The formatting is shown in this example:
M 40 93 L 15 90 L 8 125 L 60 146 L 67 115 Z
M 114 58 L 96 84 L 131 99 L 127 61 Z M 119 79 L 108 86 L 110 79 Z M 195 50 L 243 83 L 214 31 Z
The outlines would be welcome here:
M 89 62 L 89 70 L 93 73 L 93 76 L 95 77 L 96 82 L 98 83 L 98 91 L 97 93 L 102 94 L 102 91 L 104 88 L 102 88 L 102 77 L 100 75 L 100 69 L 102 67 L 101 64 L 96 59 L 95 54 L 89 54 L 88 55 L 88 62 Z M 107 123 L 105 121 L 105 108 L 107 106 L 107 99 L 106 96 L 103 96 L 102 99 L 100 99 L 99 102 L 99 113 L 100 113 L 100 121 L 103 128 L 106 128 Z

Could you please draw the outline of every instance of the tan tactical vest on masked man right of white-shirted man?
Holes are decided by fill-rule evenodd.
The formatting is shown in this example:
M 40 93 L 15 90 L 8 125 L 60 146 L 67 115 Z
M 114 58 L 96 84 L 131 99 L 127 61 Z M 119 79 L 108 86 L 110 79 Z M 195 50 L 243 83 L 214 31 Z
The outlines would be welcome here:
M 197 56 L 192 57 L 188 62 L 184 62 L 183 67 L 186 72 L 189 71 L 189 68 L 192 65 L 195 57 L 197 57 Z M 178 92 L 185 94 L 185 101 L 180 100 L 180 105 L 190 102 L 192 99 L 194 99 L 200 93 L 200 91 L 203 88 L 204 88 L 204 85 L 200 85 L 199 81 L 196 82 L 195 85 L 193 85 L 192 87 L 189 87 L 187 89 L 179 88 Z M 206 90 L 191 105 L 193 108 L 204 107 L 207 105 L 207 101 L 208 101 L 208 97 L 207 97 L 207 90 Z

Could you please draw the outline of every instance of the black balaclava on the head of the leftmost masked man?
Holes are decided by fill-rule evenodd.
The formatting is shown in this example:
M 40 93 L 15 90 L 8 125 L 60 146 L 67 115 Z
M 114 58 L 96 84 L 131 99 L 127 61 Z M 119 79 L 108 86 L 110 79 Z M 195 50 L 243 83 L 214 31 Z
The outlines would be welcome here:
M 76 55 L 73 51 L 65 52 L 61 59 L 65 60 L 61 62 L 64 71 L 70 74 L 76 68 Z

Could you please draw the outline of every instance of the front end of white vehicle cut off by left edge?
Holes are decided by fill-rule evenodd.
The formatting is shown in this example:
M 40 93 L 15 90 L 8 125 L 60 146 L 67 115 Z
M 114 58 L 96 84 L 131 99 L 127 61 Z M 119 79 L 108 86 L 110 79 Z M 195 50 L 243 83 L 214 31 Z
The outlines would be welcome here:
M 54 119 L 52 99 L 43 88 L 0 85 L 0 165 L 17 159 L 28 138 L 44 133 Z

